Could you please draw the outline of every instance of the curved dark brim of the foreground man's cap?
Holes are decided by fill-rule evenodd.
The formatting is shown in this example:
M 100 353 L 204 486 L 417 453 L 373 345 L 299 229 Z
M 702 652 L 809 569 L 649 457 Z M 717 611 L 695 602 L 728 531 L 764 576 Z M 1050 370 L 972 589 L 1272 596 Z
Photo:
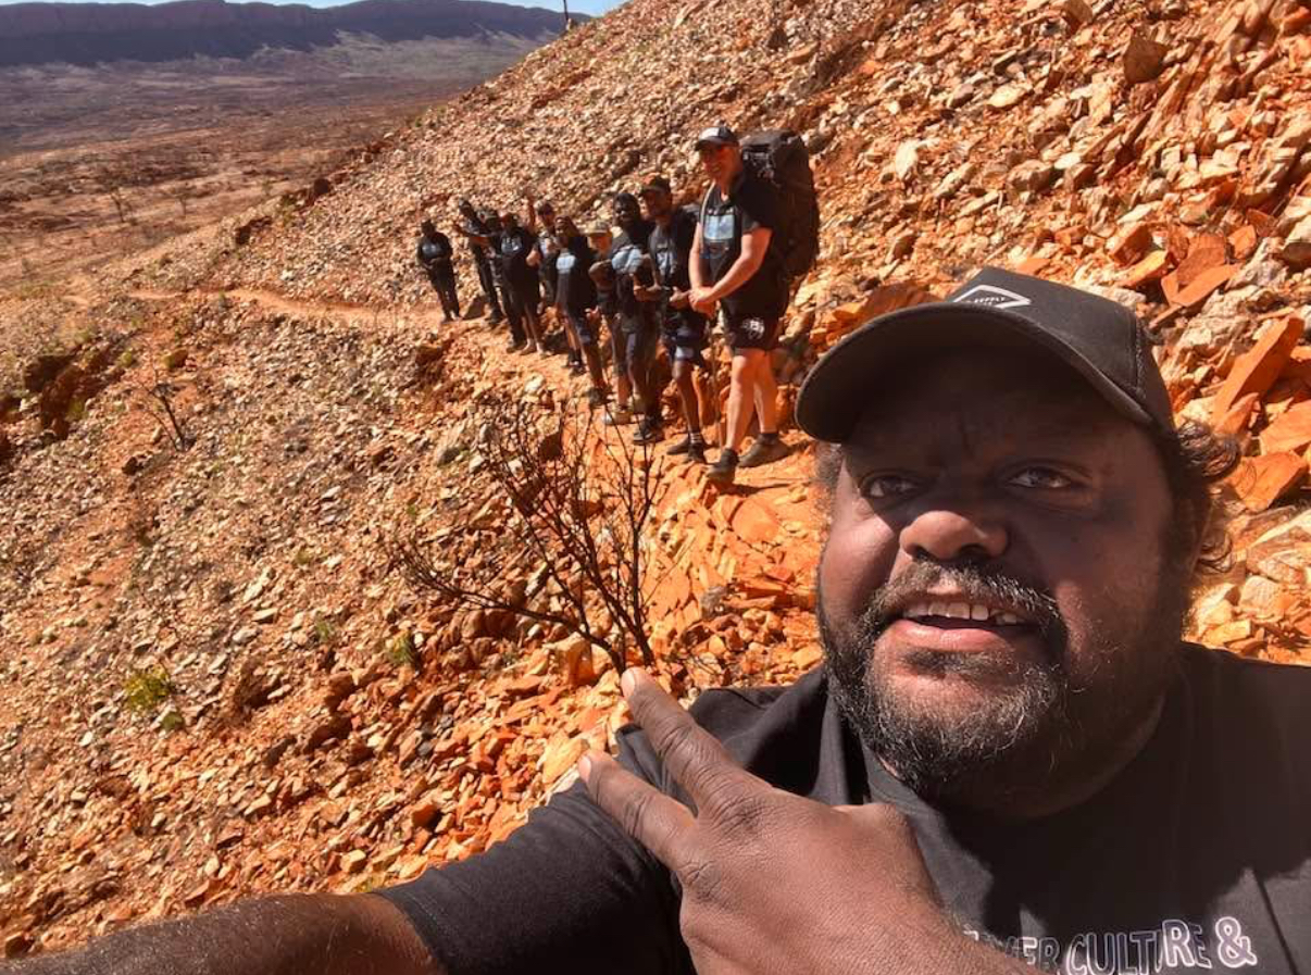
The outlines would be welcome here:
M 958 347 L 962 342 L 1038 346 L 1075 370 L 1127 419 L 1143 426 L 1152 422 L 1087 356 L 1028 318 L 996 308 L 935 301 L 880 316 L 830 349 L 797 394 L 797 426 L 817 440 L 842 443 L 877 392 L 880 375 L 915 353 Z

